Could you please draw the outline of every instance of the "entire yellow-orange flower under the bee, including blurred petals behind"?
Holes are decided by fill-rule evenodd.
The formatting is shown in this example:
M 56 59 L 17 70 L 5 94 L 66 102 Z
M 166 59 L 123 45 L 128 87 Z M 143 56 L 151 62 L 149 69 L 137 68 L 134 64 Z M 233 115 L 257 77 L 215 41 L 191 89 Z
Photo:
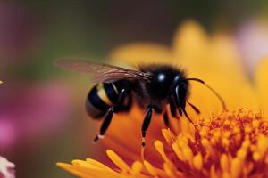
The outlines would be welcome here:
M 222 111 L 220 102 L 203 85 L 192 84 L 189 101 L 202 113 L 197 116 L 188 110 L 194 125 L 185 117 L 172 119 L 172 131 L 162 129 L 161 116 L 155 116 L 147 132 L 145 160 L 139 155 L 144 113 L 134 106 L 129 114 L 113 119 L 104 140 L 113 148 L 106 153 L 114 166 L 89 158 L 57 166 L 79 177 L 96 178 L 268 176 L 267 59 L 251 83 L 239 65 L 239 53 L 230 36 L 207 36 L 194 21 L 179 28 L 171 48 L 129 44 L 114 50 L 111 58 L 130 63 L 153 60 L 179 64 L 188 69 L 189 77 L 213 85 L 230 111 Z

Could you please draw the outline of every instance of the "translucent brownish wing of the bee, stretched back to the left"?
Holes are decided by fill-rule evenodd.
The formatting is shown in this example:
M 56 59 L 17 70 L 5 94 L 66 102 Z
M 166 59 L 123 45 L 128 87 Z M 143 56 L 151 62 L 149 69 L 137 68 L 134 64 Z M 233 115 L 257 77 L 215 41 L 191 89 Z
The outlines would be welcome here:
M 152 76 L 145 72 L 133 69 L 124 69 L 110 64 L 98 63 L 94 61 L 64 58 L 56 60 L 54 63 L 56 66 L 65 69 L 91 74 L 96 82 L 113 82 L 119 79 L 152 79 Z

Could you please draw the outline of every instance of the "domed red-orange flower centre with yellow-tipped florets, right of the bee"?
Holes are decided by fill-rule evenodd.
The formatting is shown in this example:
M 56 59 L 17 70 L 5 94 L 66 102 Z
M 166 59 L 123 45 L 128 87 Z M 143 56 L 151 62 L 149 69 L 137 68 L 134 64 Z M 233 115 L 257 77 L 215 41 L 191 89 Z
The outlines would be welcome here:
M 266 174 L 268 121 L 261 113 L 224 111 L 199 120 L 192 134 L 163 130 L 163 136 L 172 148 L 168 158 L 188 176 Z

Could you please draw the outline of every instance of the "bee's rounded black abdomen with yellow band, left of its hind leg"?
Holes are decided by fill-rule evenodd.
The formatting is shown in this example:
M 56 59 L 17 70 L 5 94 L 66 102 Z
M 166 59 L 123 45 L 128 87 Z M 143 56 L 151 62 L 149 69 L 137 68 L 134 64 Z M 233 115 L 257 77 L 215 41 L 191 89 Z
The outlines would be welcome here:
M 95 85 L 88 93 L 86 109 L 88 115 L 94 118 L 105 115 L 107 109 L 118 100 L 118 91 L 113 83 Z

